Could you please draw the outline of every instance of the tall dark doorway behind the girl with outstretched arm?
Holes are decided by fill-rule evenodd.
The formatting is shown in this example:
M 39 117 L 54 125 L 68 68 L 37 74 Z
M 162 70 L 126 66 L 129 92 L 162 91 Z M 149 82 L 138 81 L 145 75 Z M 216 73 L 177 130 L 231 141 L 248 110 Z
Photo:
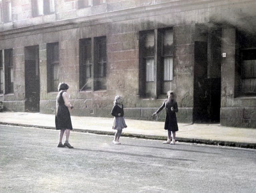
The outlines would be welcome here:
M 205 30 L 206 29 L 206 30 Z M 195 41 L 194 123 L 219 123 L 221 107 L 221 28 L 204 31 Z

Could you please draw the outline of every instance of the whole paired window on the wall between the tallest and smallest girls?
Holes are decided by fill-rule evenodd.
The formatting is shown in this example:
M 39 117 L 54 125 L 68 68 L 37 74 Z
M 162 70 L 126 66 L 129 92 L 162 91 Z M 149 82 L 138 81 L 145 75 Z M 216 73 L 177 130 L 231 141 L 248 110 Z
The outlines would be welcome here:
M 93 46 L 92 46 L 93 45 Z M 93 49 L 94 47 L 94 49 Z M 106 89 L 106 36 L 79 41 L 79 87 L 81 90 Z

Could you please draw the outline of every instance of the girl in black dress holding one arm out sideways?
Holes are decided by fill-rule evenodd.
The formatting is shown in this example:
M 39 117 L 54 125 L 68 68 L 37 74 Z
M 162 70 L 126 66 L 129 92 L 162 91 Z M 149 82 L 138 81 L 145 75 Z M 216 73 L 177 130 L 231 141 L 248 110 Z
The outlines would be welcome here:
M 154 112 L 153 116 L 156 116 L 156 114 L 163 110 L 165 107 L 166 109 L 166 118 L 164 123 L 164 129 L 168 130 L 168 139 L 167 141 L 164 141 L 165 144 L 175 144 L 175 132 L 179 130 L 177 118 L 176 118 L 176 112 L 178 112 L 178 104 L 174 100 L 173 91 L 168 91 L 167 93 L 168 99 L 166 99 L 161 107 Z

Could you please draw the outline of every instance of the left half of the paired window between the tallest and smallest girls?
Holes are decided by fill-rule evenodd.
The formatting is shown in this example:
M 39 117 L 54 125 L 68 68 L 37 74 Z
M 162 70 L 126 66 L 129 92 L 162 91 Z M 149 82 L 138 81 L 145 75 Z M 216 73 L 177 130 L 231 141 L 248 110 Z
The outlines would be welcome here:
M 80 89 L 92 89 L 92 39 L 80 40 Z

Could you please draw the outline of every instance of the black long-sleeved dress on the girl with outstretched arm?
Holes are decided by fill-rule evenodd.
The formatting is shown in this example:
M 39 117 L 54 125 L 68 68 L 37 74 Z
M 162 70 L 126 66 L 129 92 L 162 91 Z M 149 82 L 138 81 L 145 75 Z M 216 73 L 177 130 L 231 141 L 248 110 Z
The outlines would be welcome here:
M 166 99 L 156 112 L 162 111 L 164 107 L 166 109 L 164 129 L 177 132 L 179 130 L 176 117 L 176 112 L 179 111 L 177 102 L 175 102 L 175 100 Z M 171 107 L 173 107 L 173 111 Z

